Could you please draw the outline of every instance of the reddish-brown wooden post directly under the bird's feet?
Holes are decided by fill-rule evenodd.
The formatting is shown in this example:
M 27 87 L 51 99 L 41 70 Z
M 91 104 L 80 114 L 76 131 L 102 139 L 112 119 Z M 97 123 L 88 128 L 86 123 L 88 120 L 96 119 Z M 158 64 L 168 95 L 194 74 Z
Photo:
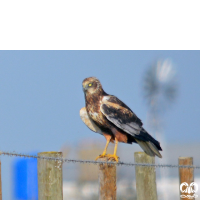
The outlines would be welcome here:
M 107 158 L 99 161 L 107 161 Z M 116 200 L 116 191 L 116 165 L 99 164 L 99 200 Z

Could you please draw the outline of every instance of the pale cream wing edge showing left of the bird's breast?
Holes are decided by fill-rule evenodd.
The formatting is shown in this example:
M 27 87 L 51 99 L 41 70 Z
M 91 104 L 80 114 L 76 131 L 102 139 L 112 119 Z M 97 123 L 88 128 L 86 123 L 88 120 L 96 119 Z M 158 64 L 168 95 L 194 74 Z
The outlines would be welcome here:
M 88 116 L 88 113 L 87 113 L 85 107 L 81 108 L 81 110 L 80 110 L 80 117 L 81 117 L 82 121 L 87 125 L 87 127 L 90 130 L 92 130 L 92 131 L 94 131 L 96 133 L 102 134 L 101 129 Z

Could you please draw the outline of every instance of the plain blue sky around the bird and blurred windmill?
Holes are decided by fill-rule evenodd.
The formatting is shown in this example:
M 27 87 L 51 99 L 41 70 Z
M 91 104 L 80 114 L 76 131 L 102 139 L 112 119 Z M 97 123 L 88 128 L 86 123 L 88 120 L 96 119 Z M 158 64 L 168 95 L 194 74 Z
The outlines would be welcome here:
M 164 118 L 166 141 L 199 143 L 200 51 L 0 51 L 0 150 L 58 151 L 63 144 L 76 148 L 85 138 L 104 141 L 79 117 L 85 105 L 82 81 L 90 76 L 146 126 L 142 80 L 160 58 L 172 60 L 179 85 Z M 2 182 L 10 164 L 5 162 L 2 158 Z

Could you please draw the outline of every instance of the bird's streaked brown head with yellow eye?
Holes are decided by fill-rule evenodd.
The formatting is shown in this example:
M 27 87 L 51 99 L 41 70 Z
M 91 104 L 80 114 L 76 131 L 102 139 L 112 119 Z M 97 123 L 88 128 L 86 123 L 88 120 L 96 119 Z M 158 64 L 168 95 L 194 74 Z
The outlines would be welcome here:
M 102 91 L 102 85 L 100 81 L 95 77 L 89 77 L 83 80 L 83 92 L 87 94 L 93 94 Z

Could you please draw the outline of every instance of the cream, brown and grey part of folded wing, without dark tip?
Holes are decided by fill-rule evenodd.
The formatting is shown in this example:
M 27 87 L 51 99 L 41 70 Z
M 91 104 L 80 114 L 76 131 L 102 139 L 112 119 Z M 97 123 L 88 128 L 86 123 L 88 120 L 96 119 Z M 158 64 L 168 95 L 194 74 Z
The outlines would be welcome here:
M 142 130 L 141 120 L 117 97 L 104 96 L 100 110 L 118 128 L 132 136 L 139 136 Z

